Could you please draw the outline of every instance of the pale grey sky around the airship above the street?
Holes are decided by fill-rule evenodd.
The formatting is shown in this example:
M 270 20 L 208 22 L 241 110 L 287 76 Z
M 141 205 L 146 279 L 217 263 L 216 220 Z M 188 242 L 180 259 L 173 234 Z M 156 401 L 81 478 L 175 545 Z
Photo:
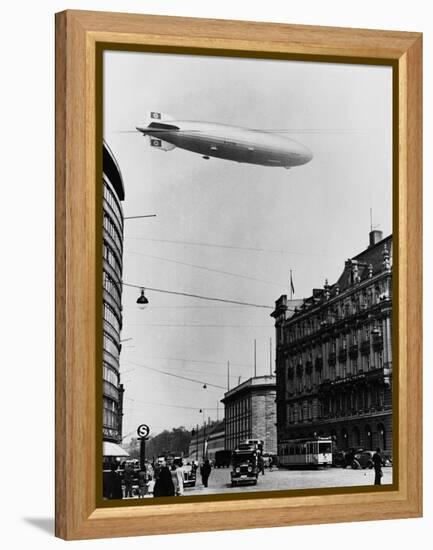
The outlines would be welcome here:
M 297 299 L 334 283 L 368 245 L 370 209 L 392 232 L 391 68 L 105 52 L 103 78 L 125 216 L 156 214 L 125 220 L 125 283 L 272 307 L 290 270 Z M 163 152 L 124 133 L 150 111 L 291 130 L 314 158 L 285 170 Z M 222 419 L 227 361 L 230 387 L 253 376 L 254 340 L 257 374 L 274 368 L 272 309 L 148 290 L 142 311 L 138 296 L 124 287 L 125 441 L 141 423 L 155 435 Z

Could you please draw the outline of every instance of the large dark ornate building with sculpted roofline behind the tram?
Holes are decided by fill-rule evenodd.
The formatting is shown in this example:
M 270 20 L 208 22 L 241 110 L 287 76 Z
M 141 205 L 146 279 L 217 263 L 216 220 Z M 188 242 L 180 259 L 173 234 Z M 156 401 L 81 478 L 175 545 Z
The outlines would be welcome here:
M 392 236 L 371 231 L 338 281 L 276 302 L 277 437 L 392 452 Z

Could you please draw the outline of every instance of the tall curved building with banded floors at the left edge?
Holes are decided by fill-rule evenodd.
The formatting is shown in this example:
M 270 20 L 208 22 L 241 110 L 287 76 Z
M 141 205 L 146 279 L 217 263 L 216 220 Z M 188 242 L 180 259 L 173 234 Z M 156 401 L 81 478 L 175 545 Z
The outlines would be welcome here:
M 122 330 L 123 209 L 122 175 L 103 145 L 103 440 L 122 441 L 123 385 L 119 376 Z

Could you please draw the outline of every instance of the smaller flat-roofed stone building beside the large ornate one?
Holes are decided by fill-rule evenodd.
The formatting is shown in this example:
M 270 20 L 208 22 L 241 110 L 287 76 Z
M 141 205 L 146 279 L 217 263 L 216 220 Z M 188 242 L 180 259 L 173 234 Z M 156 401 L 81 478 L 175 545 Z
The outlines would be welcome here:
M 256 376 L 224 394 L 225 448 L 244 439 L 262 439 L 263 450 L 277 452 L 275 376 Z

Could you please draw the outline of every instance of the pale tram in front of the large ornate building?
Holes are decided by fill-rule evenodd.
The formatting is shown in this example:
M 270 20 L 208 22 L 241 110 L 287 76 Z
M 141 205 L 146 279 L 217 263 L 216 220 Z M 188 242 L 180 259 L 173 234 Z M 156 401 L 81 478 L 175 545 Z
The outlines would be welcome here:
M 325 468 L 332 466 L 331 437 L 287 439 L 278 443 L 278 463 L 286 468 Z

